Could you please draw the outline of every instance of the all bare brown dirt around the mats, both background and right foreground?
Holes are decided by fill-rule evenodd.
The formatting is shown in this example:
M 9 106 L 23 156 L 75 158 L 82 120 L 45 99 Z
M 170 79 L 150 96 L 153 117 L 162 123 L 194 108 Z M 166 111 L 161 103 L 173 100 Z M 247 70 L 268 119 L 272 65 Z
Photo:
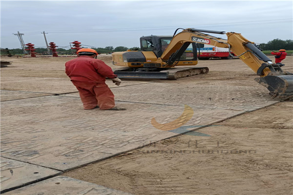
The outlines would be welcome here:
M 37 78 L 68 80 L 64 63 L 73 58 L 3 57 L 1 60 L 12 64 L 1 68 L 1 89 L 21 90 L 20 83 L 9 82 L 15 78 L 27 78 L 26 85 L 30 85 L 26 86 L 27 90 L 37 91 L 42 89 Z M 99 59 L 113 69 L 119 68 L 111 64 L 110 56 L 101 55 Z M 288 56 L 283 63 L 286 64 L 283 70 L 293 72 L 293 56 Z M 200 60 L 198 66 L 209 67 L 209 73 L 179 80 L 144 81 L 259 85 L 253 80 L 257 76 L 240 59 Z M 178 135 L 63 176 L 134 195 L 293 194 L 293 102 L 279 102 L 197 132 L 209 137 L 192 132 Z

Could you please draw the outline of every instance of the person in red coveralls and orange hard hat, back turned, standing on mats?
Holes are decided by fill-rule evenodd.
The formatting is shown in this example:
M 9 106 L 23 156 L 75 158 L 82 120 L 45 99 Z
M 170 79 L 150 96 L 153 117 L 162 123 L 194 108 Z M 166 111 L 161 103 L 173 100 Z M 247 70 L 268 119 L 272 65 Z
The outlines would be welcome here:
M 65 63 L 65 73 L 79 91 L 85 110 L 126 110 L 115 106 L 114 94 L 105 83 L 110 78 L 116 85 L 121 80 L 112 69 L 97 58 L 97 51 L 83 48 L 78 50 L 78 58 Z

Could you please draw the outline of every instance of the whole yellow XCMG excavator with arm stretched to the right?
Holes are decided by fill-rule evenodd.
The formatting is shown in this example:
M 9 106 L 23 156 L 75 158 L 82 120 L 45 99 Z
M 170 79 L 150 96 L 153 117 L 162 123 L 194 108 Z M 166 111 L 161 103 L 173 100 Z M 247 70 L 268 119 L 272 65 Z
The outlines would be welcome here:
M 182 32 L 177 33 L 179 29 Z M 226 34 L 228 39 L 211 34 Z M 200 57 L 204 44 L 229 48 L 230 57 L 239 57 L 260 76 L 255 80 L 265 86 L 273 97 L 293 97 L 293 74 L 284 72 L 282 63 L 272 63 L 254 42 L 240 33 L 178 28 L 173 36 L 146 36 L 140 38 L 141 51 L 114 52 L 112 63 L 124 66 L 114 71 L 119 78 L 177 79 L 205 74 L 208 67 L 192 67 Z M 178 68 L 178 66 L 185 66 Z

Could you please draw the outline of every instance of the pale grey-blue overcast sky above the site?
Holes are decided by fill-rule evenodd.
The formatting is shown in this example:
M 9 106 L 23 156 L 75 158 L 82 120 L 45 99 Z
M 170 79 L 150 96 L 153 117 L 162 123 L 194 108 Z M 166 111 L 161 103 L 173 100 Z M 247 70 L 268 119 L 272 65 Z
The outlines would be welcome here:
M 75 40 L 130 48 L 142 36 L 173 35 L 177 28 L 237 32 L 257 43 L 293 39 L 293 1 L 1 0 L 1 48 L 21 48 L 18 31 L 36 47 L 45 47 L 45 31 L 60 48 Z

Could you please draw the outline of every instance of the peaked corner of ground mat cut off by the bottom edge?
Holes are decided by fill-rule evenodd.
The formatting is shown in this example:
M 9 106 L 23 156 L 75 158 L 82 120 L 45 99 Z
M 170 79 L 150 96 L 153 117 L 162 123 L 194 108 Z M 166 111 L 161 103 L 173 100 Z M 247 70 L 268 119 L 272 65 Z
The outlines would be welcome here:
M 5 193 L 5 195 L 131 195 L 94 183 L 57 176 Z

